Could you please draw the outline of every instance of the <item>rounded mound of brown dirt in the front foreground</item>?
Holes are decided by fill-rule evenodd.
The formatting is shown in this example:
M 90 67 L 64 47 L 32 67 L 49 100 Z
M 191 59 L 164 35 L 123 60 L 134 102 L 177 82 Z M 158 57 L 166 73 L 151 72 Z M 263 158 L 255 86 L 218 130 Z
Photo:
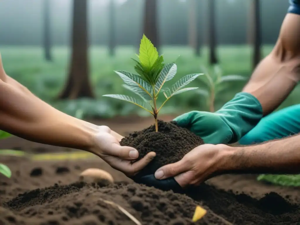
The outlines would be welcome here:
M 106 187 L 83 182 L 54 185 L 20 194 L 3 204 L 0 224 L 135 224 L 117 203 L 142 224 L 185 225 L 192 222 L 197 202 L 186 195 L 164 192 L 142 184 L 114 184 Z M 226 224 L 211 211 L 196 224 Z M 22 223 L 22 221 L 24 223 Z

